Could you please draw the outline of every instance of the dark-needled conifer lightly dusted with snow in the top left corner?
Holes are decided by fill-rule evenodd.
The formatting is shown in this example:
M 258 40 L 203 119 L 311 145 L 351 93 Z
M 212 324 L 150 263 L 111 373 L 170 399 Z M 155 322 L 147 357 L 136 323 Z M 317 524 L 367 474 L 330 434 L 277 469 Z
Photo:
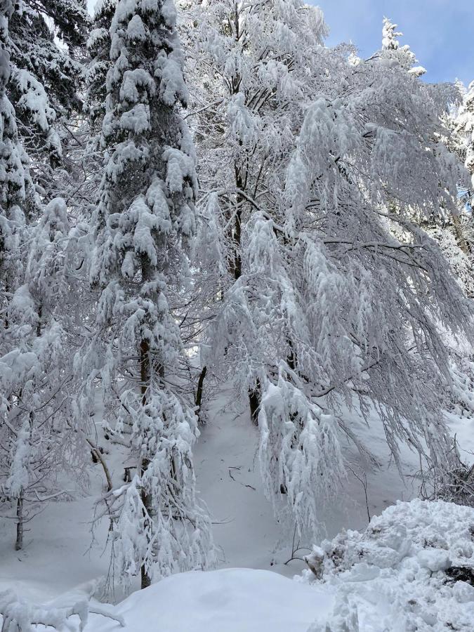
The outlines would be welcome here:
M 7 91 L 32 177 L 46 201 L 63 193 L 57 168 L 63 166 L 63 145 L 74 141 L 67 117 L 81 110 L 87 25 L 84 0 L 24 0 L 11 15 Z

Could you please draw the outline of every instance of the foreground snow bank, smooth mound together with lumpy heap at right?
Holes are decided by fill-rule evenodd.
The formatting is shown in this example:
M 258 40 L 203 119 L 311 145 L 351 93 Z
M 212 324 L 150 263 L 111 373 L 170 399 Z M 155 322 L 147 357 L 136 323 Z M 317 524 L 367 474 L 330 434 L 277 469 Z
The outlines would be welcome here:
M 473 630 L 473 508 L 399 502 L 364 531 L 323 541 L 308 566 L 312 570 L 295 579 L 242 568 L 175 574 L 115 607 L 92 603 L 84 631 Z M 45 611 L 72 606 L 79 596 L 80 591 L 64 595 Z M 69 622 L 76 631 L 79 618 Z

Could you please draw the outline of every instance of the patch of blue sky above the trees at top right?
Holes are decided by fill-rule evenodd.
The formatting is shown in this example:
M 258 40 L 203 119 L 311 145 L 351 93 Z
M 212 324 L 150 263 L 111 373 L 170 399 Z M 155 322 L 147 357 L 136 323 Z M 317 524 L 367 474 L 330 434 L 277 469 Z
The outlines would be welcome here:
M 361 56 L 380 48 L 382 19 L 409 44 L 426 81 L 474 80 L 474 0 L 307 0 L 319 5 L 331 33 L 327 44 L 352 41 Z

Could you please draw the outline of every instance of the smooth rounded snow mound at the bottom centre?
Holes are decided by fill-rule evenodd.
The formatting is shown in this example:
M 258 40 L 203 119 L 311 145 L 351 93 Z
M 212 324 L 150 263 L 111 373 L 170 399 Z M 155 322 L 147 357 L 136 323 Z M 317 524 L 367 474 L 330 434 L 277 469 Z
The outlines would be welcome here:
M 121 602 L 114 621 L 91 617 L 86 632 L 306 632 L 333 607 L 326 591 L 264 570 L 180 573 Z

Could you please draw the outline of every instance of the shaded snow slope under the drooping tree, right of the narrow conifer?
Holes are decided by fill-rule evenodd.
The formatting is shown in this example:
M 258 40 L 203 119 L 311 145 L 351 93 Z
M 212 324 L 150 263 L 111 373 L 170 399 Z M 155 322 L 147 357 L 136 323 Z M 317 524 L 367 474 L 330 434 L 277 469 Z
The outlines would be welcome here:
M 322 507 L 320 532 L 315 534 L 319 539 L 334 536 L 344 527 L 367 526 L 364 477 L 367 477 L 371 515 L 381 513 L 398 499 L 412 499 L 419 491 L 415 476 L 419 470 L 418 456 L 402 447 L 404 477 L 401 478 L 395 464 L 389 463 L 378 417 L 371 418 L 367 426 L 356 412 L 346 412 L 345 416 L 353 432 L 369 445 L 382 466 L 377 469 L 364 463 L 357 450 L 342 439 L 345 456 L 355 474 L 348 473 L 337 502 L 331 499 Z M 195 468 L 197 489 L 201 490 L 214 522 L 220 566 L 271 569 L 293 577 L 304 563 L 296 560 L 284 565 L 291 558 L 293 530 L 291 525 L 276 522 L 272 506 L 265 499 L 257 454 L 258 429 L 249 421 L 246 402 L 233 400 L 230 392 L 225 399 L 213 402 L 209 419 L 195 449 Z M 300 543 L 306 547 L 311 544 Z M 298 556 L 303 553 L 300 551 Z

